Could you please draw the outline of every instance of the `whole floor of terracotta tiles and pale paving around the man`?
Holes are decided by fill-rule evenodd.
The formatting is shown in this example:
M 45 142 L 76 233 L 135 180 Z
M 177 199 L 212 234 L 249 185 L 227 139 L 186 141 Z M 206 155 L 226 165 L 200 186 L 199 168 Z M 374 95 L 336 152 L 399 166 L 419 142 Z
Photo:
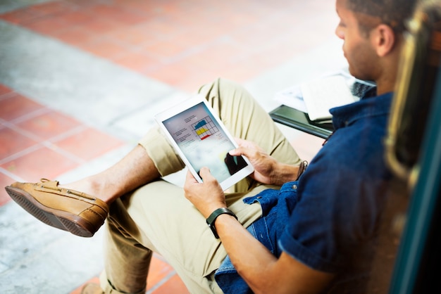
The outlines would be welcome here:
M 329 0 L 0 0 L 1 293 L 79 293 L 104 264 L 101 231 L 46 226 L 4 186 L 103 170 L 217 77 L 269 112 L 276 92 L 345 67 L 337 23 Z M 323 142 L 279 127 L 307 160 Z M 151 267 L 147 293 L 187 293 L 161 256 Z

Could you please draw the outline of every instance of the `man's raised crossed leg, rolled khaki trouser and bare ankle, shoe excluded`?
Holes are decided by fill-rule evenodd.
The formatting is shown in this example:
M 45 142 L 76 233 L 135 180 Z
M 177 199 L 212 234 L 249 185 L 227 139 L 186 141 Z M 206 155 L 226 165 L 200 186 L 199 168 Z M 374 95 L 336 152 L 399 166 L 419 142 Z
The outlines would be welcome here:
M 217 79 L 199 89 L 221 117 L 233 136 L 256 142 L 276 159 L 297 165 L 300 159 L 275 126 L 271 117 L 242 87 Z M 107 204 L 139 186 L 184 167 L 178 155 L 159 129 L 151 129 L 135 148 L 107 170 L 91 177 L 60 185 L 94 195 Z M 251 183 L 244 180 L 231 191 L 246 191 Z

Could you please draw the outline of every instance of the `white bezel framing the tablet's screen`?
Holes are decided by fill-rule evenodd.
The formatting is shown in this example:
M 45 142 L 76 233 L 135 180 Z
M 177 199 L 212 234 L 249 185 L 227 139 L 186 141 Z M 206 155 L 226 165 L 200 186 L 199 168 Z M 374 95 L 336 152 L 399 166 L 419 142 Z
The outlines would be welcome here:
M 161 130 L 163 131 L 163 133 L 166 134 L 168 141 L 173 146 L 176 153 L 178 153 L 178 155 L 180 155 L 180 158 L 185 163 L 188 170 L 190 170 L 190 172 L 192 173 L 193 177 L 195 179 L 197 179 L 197 181 L 199 181 L 199 183 L 201 183 L 202 182 L 201 177 L 199 177 L 199 174 L 197 174 L 197 171 L 194 169 L 194 167 L 190 163 L 190 160 L 187 159 L 185 154 L 182 152 L 180 146 L 178 145 L 178 143 L 175 142 L 175 140 L 173 139 L 173 136 L 170 134 L 170 132 L 168 132 L 168 129 L 167 129 L 166 125 L 164 124 L 164 122 L 166 120 L 174 117 L 175 115 L 182 113 L 183 111 L 185 111 L 189 108 L 192 108 L 193 106 L 197 106 L 199 103 L 204 103 L 204 105 L 206 106 L 206 109 L 209 112 L 209 115 L 211 116 L 211 119 L 216 121 L 216 123 L 218 124 L 218 127 L 220 127 L 223 134 L 225 134 L 225 136 L 227 136 L 227 138 L 230 141 L 230 143 L 232 144 L 232 146 L 237 148 L 238 145 L 237 145 L 235 139 L 231 136 L 228 129 L 226 129 L 225 125 L 219 119 L 218 115 L 216 115 L 216 113 L 213 112 L 213 109 L 211 108 L 211 106 L 209 106 L 209 103 L 207 103 L 206 99 L 201 95 L 192 96 L 192 97 L 186 99 L 185 101 L 182 101 L 182 103 L 178 103 L 175 106 L 163 111 L 162 113 L 155 115 L 154 118 L 155 118 L 156 122 L 159 124 L 159 127 L 161 127 Z M 251 165 L 251 162 L 249 162 L 248 158 L 246 158 L 245 156 L 242 156 L 242 158 L 244 158 L 244 161 L 247 163 L 247 166 L 242 168 L 242 170 L 235 172 L 235 174 L 231 174 L 227 179 L 225 179 L 223 181 L 219 181 L 219 184 L 221 185 L 223 191 L 227 190 L 228 188 L 230 188 L 231 186 L 236 184 L 238 181 L 244 179 L 245 177 L 247 177 L 249 174 L 251 174 L 254 171 L 254 167 Z

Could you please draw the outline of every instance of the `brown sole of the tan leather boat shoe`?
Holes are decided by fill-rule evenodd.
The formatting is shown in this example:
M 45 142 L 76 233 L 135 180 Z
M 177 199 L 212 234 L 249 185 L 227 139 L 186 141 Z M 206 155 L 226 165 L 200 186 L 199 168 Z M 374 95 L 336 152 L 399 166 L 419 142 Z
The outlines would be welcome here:
M 44 222 L 44 224 L 54 226 L 63 231 L 69 231 L 80 237 L 92 237 L 94 236 L 95 231 L 97 231 L 94 229 L 94 226 L 85 221 L 85 219 L 73 215 L 70 212 L 54 210 L 50 207 L 46 207 L 35 200 L 30 193 L 27 193 L 20 188 L 6 186 L 5 189 L 9 196 L 11 196 L 18 205 L 23 207 L 24 210 L 39 219 L 41 222 Z

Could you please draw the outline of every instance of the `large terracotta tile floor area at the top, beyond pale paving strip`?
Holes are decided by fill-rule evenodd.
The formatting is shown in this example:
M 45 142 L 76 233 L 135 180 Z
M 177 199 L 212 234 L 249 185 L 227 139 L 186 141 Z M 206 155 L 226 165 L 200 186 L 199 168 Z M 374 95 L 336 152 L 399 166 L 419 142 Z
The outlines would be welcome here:
M 313 48 L 333 32 L 329 11 L 325 0 L 71 0 L 0 18 L 193 91 L 218 76 L 243 82 Z

